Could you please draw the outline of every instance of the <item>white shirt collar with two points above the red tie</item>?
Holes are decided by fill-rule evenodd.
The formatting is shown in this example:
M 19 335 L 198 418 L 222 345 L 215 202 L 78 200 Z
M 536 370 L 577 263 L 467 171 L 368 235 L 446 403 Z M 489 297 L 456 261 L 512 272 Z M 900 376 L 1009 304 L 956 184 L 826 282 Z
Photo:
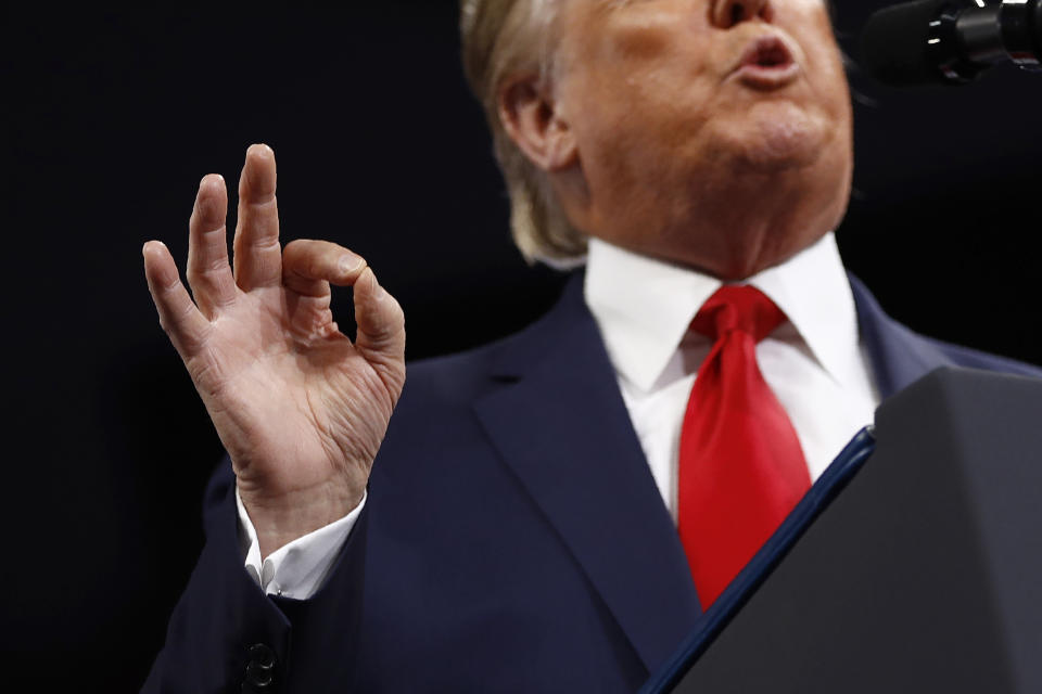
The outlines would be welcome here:
M 589 240 L 585 297 L 615 370 L 650 391 L 702 304 L 723 283 L 708 274 Z M 834 234 L 751 284 L 785 311 L 813 357 L 842 384 L 857 358 L 857 318 Z

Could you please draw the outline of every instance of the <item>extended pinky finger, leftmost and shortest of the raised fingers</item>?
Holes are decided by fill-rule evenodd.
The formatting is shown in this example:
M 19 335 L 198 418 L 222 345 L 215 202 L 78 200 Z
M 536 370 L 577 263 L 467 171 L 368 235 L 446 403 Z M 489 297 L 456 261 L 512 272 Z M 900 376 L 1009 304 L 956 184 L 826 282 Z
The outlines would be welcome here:
M 150 241 L 141 249 L 144 256 L 144 277 L 149 293 L 160 314 L 160 325 L 169 336 L 174 348 L 188 359 L 200 348 L 209 321 L 200 312 L 188 290 L 181 284 L 177 264 L 169 249 L 160 241 Z

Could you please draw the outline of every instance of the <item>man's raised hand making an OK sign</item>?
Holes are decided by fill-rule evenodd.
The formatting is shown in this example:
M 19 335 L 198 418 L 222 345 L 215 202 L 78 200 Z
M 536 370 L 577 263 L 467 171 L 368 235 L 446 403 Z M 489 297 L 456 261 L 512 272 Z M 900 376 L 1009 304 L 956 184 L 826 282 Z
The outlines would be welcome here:
M 326 241 L 279 244 L 275 153 L 246 151 L 234 271 L 228 193 L 203 178 L 189 222 L 188 281 L 158 241 L 144 271 L 160 323 L 231 457 L 263 556 L 361 500 L 405 383 L 405 318 L 365 260 Z M 354 287 L 354 343 L 330 311 Z

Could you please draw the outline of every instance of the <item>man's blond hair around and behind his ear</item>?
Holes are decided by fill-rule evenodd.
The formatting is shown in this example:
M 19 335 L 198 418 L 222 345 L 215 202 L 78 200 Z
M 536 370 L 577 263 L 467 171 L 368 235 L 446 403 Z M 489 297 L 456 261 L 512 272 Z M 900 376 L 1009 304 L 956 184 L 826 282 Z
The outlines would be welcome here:
M 564 216 L 546 172 L 514 144 L 499 118 L 499 89 L 519 73 L 552 72 L 560 0 L 460 0 L 463 70 L 492 129 L 510 195 L 513 241 L 530 262 L 567 265 L 586 253 L 586 237 Z

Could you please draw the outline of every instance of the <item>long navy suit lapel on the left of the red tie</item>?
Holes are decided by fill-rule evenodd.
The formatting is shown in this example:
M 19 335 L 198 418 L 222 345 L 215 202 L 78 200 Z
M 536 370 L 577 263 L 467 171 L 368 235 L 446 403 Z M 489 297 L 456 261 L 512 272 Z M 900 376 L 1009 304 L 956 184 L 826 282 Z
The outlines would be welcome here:
M 504 385 L 475 412 L 653 671 L 694 627 L 698 600 L 582 277 L 546 318 L 506 344 L 496 370 Z

